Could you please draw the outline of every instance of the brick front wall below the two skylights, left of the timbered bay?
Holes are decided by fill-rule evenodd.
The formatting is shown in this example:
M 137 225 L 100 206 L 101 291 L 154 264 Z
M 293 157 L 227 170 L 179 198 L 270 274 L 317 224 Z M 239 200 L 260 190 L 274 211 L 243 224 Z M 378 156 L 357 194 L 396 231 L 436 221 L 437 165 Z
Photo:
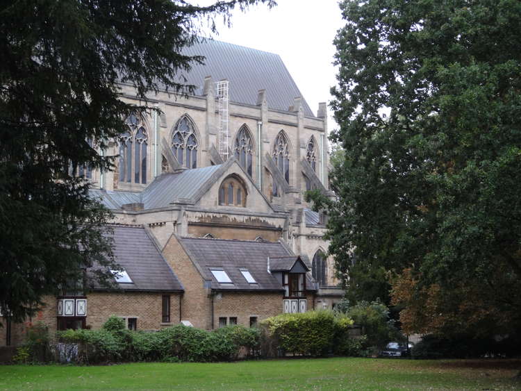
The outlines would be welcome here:
M 220 292 L 213 298 L 214 328 L 219 327 L 219 318 L 237 317 L 237 324 L 249 327 L 249 318 L 258 322 L 282 313 L 282 292 Z

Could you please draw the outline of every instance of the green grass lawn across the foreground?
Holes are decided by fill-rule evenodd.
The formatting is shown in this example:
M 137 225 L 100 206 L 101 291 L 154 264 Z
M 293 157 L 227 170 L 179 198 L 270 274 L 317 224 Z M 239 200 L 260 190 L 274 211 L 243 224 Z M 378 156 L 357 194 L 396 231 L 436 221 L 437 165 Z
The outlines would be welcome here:
M 320 358 L 97 367 L 0 365 L 0 390 L 521 389 L 521 360 Z

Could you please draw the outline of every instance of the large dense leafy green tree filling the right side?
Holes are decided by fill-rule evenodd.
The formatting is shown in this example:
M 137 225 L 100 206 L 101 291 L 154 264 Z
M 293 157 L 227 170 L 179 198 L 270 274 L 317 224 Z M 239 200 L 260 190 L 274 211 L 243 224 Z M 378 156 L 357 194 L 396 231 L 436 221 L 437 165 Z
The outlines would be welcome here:
M 408 331 L 515 330 L 521 3 L 362 0 L 340 8 L 338 198 L 315 199 L 329 208 L 330 251 L 349 296 L 389 302 L 395 274 L 393 303 L 408 306 Z M 422 319 L 427 301 L 450 327 Z

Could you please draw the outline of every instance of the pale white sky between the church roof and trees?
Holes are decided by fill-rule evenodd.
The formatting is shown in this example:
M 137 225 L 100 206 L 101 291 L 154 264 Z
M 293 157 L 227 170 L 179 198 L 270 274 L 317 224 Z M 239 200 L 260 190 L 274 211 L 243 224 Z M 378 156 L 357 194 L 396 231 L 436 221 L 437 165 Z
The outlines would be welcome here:
M 337 0 L 276 0 L 271 10 L 265 4 L 245 13 L 233 12 L 232 26 L 217 24 L 217 40 L 240 44 L 281 56 L 308 105 L 317 113 L 318 103 L 329 102 L 329 89 L 336 84 L 333 39 L 342 24 Z M 212 0 L 192 0 L 201 6 Z M 329 108 L 328 108 L 329 110 Z M 336 127 L 329 110 L 329 131 Z

